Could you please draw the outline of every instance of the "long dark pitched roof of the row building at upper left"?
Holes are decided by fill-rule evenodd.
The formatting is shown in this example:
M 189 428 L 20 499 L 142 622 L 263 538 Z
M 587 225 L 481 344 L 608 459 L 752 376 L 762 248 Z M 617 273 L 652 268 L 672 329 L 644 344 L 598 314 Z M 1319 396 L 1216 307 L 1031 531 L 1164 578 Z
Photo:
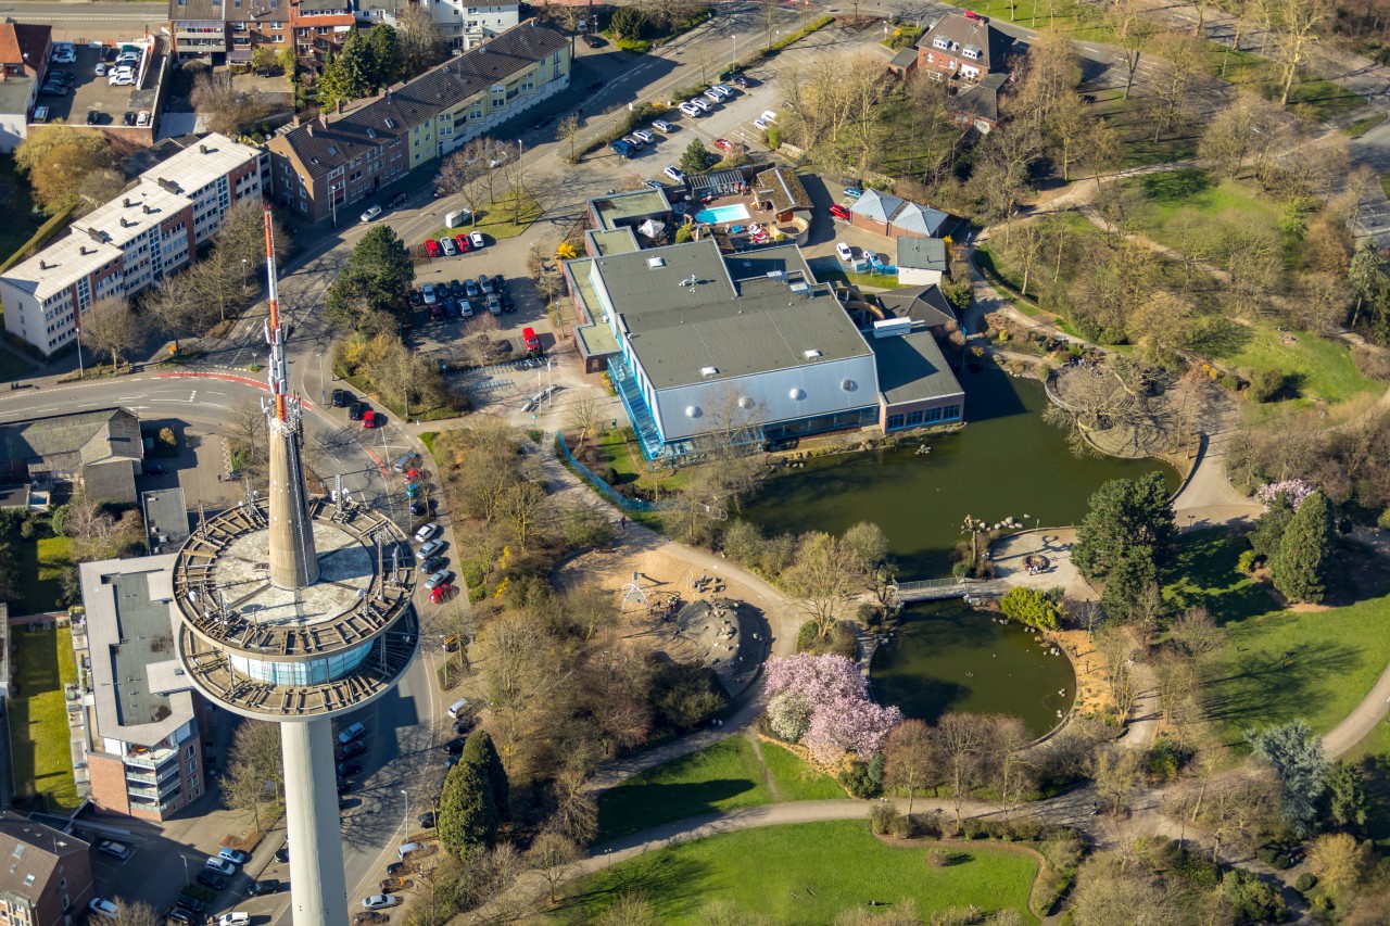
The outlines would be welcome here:
M 310 174 L 327 174 L 386 139 L 404 138 L 411 127 L 528 71 L 569 44 L 569 39 L 552 29 L 531 25 L 507 29 L 407 83 L 398 83 L 385 96 L 286 132 L 271 142 L 271 149 L 288 145 Z

